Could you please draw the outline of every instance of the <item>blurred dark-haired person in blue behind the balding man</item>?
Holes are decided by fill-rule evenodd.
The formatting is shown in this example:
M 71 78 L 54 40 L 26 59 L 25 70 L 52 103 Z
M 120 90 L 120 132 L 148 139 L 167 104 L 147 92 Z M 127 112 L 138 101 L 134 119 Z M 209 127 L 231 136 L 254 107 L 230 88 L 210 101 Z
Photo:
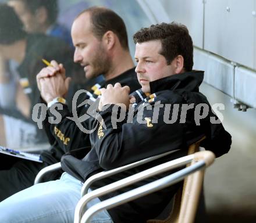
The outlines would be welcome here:
M 72 46 L 70 31 L 56 21 L 57 0 L 9 0 L 8 5 L 15 9 L 27 32 L 59 37 Z

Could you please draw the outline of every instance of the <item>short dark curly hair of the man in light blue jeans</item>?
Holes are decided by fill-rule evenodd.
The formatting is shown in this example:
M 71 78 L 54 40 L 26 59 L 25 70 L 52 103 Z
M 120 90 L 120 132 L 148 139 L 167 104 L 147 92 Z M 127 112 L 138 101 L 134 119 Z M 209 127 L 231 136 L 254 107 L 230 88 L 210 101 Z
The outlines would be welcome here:
M 167 64 L 170 64 L 176 56 L 182 55 L 184 69 L 192 70 L 193 41 L 186 26 L 175 22 L 161 23 L 141 28 L 133 35 L 135 44 L 155 39 L 159 39 L 162 43 L 162 50 L 159 53 L 165 57 Z

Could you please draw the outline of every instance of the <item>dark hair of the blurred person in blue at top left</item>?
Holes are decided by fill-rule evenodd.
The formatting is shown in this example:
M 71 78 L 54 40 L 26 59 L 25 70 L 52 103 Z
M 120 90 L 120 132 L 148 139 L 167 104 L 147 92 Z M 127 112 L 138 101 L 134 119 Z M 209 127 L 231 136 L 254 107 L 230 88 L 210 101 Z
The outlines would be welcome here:
M 33 14 L 37 13 L 37 9 L 44 7 L 47 10 L 47 22 L 49 25 L 55 23 L 58 17 L 57 0 L 9 0 L 23 2 L 26 8 Z

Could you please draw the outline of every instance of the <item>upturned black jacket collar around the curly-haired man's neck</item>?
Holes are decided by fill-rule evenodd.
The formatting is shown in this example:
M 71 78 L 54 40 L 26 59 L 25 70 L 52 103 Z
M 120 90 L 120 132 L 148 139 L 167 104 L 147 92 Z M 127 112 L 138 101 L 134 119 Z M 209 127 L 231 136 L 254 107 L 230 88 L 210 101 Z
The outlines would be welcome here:
M 151 93 L 166 89 L 186 89 L 187 91 L 199 91 L 199 86 L 204 79 L 204 71 L 193 70 L 182 74 L 174 74 L 156 81 L 150 82 Z

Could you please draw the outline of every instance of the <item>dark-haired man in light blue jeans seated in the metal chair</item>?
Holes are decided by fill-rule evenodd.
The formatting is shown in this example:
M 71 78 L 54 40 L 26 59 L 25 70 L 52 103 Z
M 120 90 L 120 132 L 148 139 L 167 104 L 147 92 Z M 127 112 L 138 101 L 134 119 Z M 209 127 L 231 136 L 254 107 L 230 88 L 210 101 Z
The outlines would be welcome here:
M 204 141 L 205 149 L 212 150 L 216 156 L 229 151 L 231 136 L 212 113 L 205 96 L 198 92 L 203 71 L 190 70 L 193 60 L 185 59 L 184 53 L 192 55 L 191 51 L 193 51 L 187 28 L 176 23 L 157 24 L 138 31 L 134 35 L 134 42 L 136 42 L 137 78 L 143 91 L 150 92 L 151 95 L 134 105 L 133 120 L 131 121 L 129 117 L 129 122 L 120 121 L 117 125 L 113 125 L 116 119 L 112 117 L 118 114 L 121 116 L 122 109 L 127 110 L 130 105 L 129 88 L 122 87 L 119 83 L 101 88 L 98 116 L 90 120 L 91 129 L 95 128 L 90 135 L 92 145 L 90 152 L 80 160 L 79 165 L 73 166 L 70 165 L 71 163 L 66 163 L 65 158 L 70 156 L 67 154 L 62 159 L 62 168 L 69 174 L 65 172 L 58 181 L 34 185 L 0 203 L 0 209 L 4 213 L 0 217 L 1 221 L 13 220 L 12 213 L 15 213 L 15 218 L 23 222 L 29 222 L 31 219 L 40 219 L 41 222 L 62 222 L 67 219 L 68 222 L 72 222 L 74 207 L 80 195 L 80 181 L 84 182 L 90 175 L 100 170 L 110 170 L 173 150 L 168 157 L 96 181 L 91 188 L 95 189 L 115 182 L 159 163 L 184 156 L 189 145 L 205 135 L 207 136 Z M 180 42 L 186 42 L 187 48 L 180 45 Z M 162 55 L 163 43 L 167 48 L 166 52 L 174 51 L 170 57 Z M 189 52 L 187 49 L 190 49 Z M 169 62 L 168 59 L 170 59 Z M 174 105 L 179 105 L 176 121 L 169 120 L 173 112 L 176 113 Z M 197 114 L 198 109 L 194 106 L 201 105 L 208 106 L 209 112 L 200 119 L 198 124 L 197 116 L 201 115 L 201 109 Z M 121 107 L 120 113 L 116 114 L 119 106 Z M 187 116 L 184 117 L 182 107 L 188 108 L 188 106 Z M 158 114 L 157 117 L 156 114 Z M 99 116 L 101 118 L 98 118 Z M 99 197 L 99 199 L 108 199 L 168 174 L 170 172 L 145 179 L 117 192 Z M 119 207 L 99 212 L 93 215 L 91 222 L 103 220 L 108 223 L 147 222 L 148 219 L 158 216 L 179 186 L 180 184 L 169 186 Z M 88 202 L 87 208 L 99 202 L 99 199 Z M 39 200 L 40 206 L 36 206 Z M 23 207 L 22 210 L 19 210 L 19 206 Z

